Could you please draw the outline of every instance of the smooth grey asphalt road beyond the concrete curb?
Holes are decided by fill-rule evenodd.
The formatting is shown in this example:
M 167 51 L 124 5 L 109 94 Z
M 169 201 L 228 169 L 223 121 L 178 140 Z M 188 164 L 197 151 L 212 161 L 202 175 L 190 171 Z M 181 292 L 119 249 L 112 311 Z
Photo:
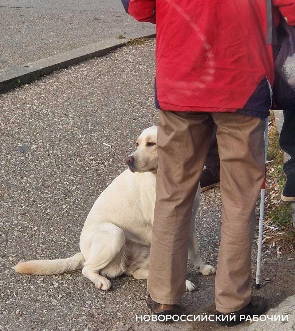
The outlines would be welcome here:
M 120 0 L 1 0 L 0 73 L 147 26 Z

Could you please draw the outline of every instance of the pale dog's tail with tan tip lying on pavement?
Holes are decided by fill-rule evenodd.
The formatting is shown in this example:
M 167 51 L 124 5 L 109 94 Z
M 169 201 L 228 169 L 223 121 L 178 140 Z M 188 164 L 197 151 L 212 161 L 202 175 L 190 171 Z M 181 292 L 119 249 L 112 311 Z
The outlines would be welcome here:
M 83 254 L 77 253 L 67 259 L 58 260 L 31 260 L 18 263 L 13 267 L 19 273 L 33 273 L 36 275 L 53 275 L 66 271 L 73 271 L 83 267 Z

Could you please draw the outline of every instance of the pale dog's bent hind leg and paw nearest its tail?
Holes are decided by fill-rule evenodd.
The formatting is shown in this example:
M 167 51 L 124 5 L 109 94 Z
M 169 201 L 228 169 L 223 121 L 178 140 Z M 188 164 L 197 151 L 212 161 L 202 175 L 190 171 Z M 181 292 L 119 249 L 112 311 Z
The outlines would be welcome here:
M 91 280 L 95 287 L 105 291 L 110 289 L 110 281 L 99 274 L 109 264 L 112 264 L 114 270 L 113 277 L 123 273 L 123 265 L 120 265 L 123 258 L 118 258 L 118 255 L 123 257 L 124 244 L 123 230 L 112 223 L 100 224 L 100 229 L 93 234 L 89 257 L 84 263 L 82 274 Z

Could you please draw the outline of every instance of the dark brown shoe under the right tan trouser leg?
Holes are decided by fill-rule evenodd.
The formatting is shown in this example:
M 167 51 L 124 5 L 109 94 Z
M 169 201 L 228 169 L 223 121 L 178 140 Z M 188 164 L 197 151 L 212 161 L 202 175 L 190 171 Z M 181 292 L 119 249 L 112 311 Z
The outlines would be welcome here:
M 266 311 L 267 311 L 267 301 L 263 297 L 254 296 L 251 298 L 250 303 L 246 307 L 240 310 L 228 314 L 217 312 L 217 316 L 219 316 L 220 318 L 218 324 L 222 326 L 234 326 L 247 320 L 248 316 L 250 316 L 251 319 L 253 319 L 254 315 L 257 315 L 256 317 L 258 317 L 263 313 L 265 313 Z M 235 318 L 232 318 L 233 315 L 235 315 Z M 226 319 L 225 316 L 228 316 L 228 319 Z

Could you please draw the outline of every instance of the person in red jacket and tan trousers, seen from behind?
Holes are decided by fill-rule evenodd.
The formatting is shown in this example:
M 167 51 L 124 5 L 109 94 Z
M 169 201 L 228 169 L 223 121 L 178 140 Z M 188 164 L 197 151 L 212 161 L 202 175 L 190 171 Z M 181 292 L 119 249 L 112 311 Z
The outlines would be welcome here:
M 122 2 L 157 29 L 159 164 L 148 306 L 156 315 L 176 314 L 185 292 L 192 203 L 216 124 L 223 206 L 215 304 L 219 323 L 232 326 L 242 314 L 267 309 L 264 298 L 251 296 L 251 243 L 274 82 L 272 5 L 292 24 L 295 0 Z

